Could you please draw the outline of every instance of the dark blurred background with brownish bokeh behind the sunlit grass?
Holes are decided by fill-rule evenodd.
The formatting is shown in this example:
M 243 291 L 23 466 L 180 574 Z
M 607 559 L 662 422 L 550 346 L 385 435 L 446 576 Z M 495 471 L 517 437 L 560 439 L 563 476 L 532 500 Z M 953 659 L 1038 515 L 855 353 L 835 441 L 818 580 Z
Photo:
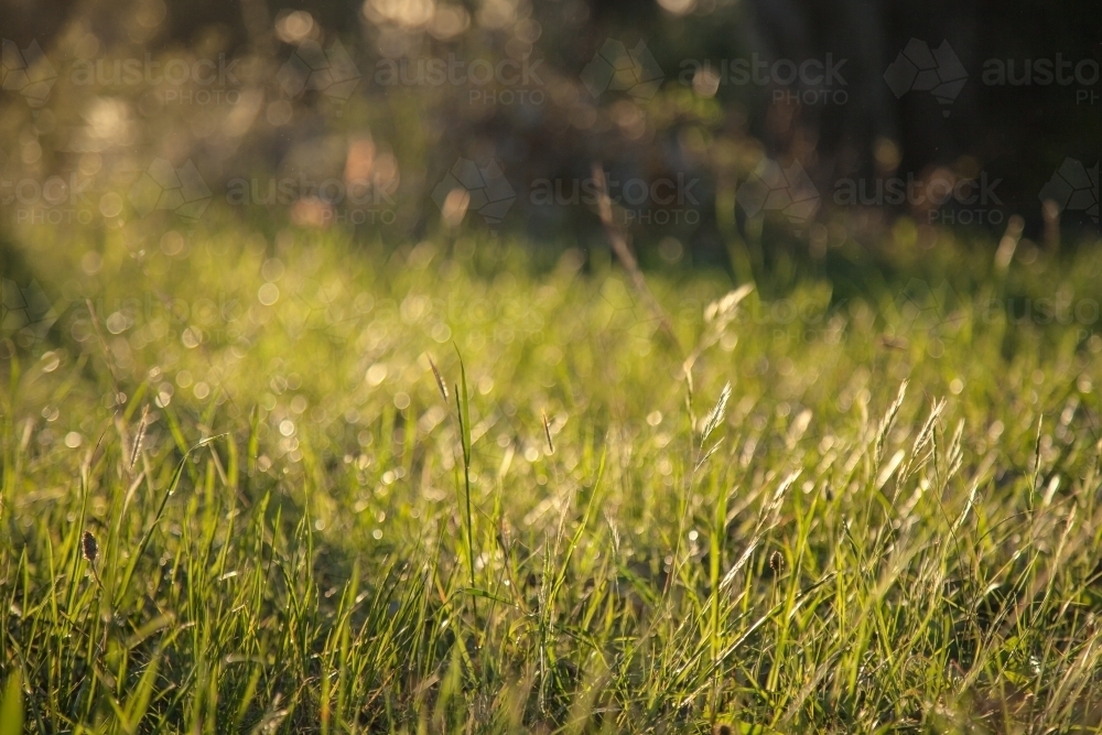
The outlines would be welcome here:
M 736 280 L 946 228 L 1098 237 L 1085 0 L 3 0 L 0 20 L 9 233 L 171 250 L 229 209 L 269 235 L 606 247 L 599 162 L 645 263 Z

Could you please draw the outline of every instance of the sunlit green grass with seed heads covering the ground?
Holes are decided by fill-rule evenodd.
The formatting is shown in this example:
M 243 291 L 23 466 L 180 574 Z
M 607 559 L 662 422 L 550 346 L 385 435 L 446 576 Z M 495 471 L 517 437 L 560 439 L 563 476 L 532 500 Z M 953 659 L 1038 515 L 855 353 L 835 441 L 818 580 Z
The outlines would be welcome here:
M 24 247 L 0 729 L 1099 731 L 1096 257 L 279 241 Z

